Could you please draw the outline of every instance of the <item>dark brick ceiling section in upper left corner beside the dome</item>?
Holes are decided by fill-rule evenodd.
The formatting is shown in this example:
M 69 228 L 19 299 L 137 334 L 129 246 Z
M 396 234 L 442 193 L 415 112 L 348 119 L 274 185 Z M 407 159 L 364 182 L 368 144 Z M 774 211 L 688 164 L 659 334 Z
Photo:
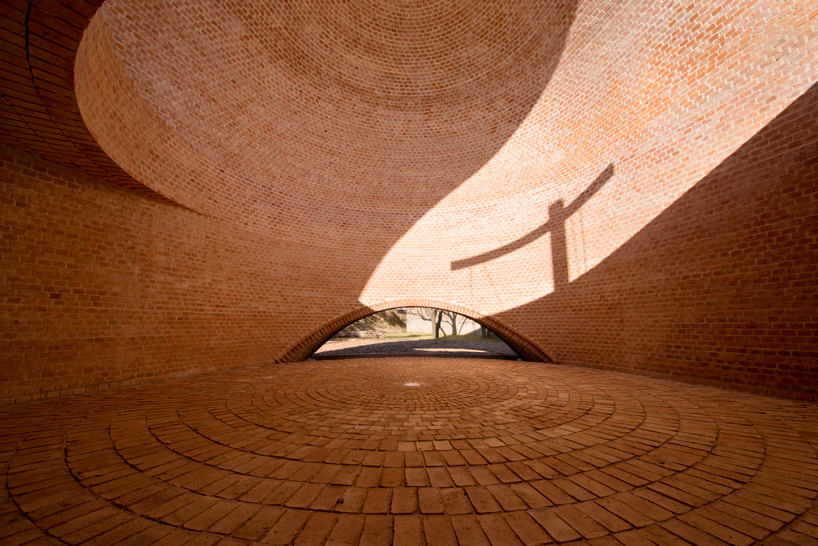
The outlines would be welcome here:
M 69 169 L 166 201 L 103 152 L 74 93 L 74 59 L 99 0 L 3 3 L 0 142 Z M 169 201 L 167 201 L 169 202 Z

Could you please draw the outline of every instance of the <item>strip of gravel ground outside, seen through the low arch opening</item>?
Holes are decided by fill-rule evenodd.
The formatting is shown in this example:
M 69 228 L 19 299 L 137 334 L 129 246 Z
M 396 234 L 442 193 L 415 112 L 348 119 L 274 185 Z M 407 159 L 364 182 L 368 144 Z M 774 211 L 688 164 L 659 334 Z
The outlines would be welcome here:
M 464 341 L 432 339 L 331 339 L 315 356 L 405 354 L 423 356 L 433 353 L 452 353 L 457 356 L 501 355 L 516 357 L 517 353 L 505 343 L 497 341 Z

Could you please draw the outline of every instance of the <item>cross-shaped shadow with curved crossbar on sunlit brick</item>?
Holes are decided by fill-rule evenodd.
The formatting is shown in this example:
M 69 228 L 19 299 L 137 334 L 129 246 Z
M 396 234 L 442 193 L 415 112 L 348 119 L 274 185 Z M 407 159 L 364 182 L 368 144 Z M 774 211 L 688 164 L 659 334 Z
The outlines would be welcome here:
M 533 243 L 550 231 L 551 261 L 554 268 L 554 289 L 567 285 L 570 281 L 570 276 L 568 273 L 568 240 L 565 234 L 565 223 L 572 214 L 578 211 L 582 205 L 587 203 L 591 197 L 593 197 L 594 194 L 598 192 L 602 186 L 608 182 L 608 180 L 611 179 L 613 174 L 614 166 L 613 163 L 611 163 L 570 205 L 566 207 L 563 204 L 562 199 L 559 199 L 548 207 L 548 221 L 546 223 L 534 231 L 527 233 L 516 241 L 512 241 L 511 243 L 501 246 L 500 248 L 495 248 L 494 250 L 490 250 L 484 254 L 472 256 L 471 258 L 466 258 L 464 260 L 456 260 L 451 264 L 452 270 L 465 269 L 467 267 L 473 267 L 475 265 L 495 260 L 500 256 L 505 256 L 506 254 Z

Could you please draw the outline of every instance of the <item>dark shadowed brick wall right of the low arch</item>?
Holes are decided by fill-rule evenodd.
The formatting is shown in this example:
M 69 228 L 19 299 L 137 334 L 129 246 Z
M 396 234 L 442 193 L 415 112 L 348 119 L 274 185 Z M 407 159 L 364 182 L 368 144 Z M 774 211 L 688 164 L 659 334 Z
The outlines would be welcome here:
M 495 318 L 532 315 L 559 363 L 815 400 L 818 85 L 593 270 Z

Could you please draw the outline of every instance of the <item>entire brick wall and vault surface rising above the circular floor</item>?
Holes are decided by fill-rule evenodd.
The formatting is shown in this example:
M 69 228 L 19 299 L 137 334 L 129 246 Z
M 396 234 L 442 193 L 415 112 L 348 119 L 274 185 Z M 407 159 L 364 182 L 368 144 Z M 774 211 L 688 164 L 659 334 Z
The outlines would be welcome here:
M 4 402 L 394 301 L 815 399 L 810 2 L 369 5 L 4 4 Z

